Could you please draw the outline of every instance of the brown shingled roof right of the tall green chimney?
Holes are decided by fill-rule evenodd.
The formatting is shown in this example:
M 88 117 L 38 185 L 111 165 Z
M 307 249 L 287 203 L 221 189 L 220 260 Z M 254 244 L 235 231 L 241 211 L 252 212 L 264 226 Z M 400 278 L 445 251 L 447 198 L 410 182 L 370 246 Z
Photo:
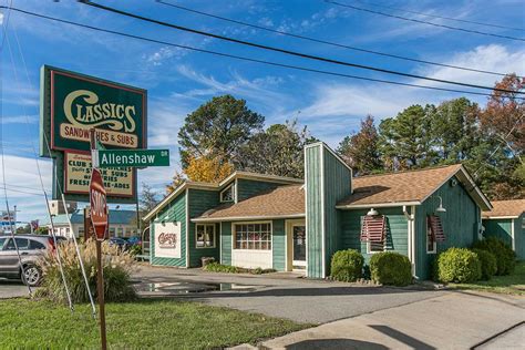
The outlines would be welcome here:
M 420 205 L 454 175 L 482 209 L 491 208 L 488 199 L 461 164 L 354 177 L 353 193 L 339 202 L 337 207 Z

